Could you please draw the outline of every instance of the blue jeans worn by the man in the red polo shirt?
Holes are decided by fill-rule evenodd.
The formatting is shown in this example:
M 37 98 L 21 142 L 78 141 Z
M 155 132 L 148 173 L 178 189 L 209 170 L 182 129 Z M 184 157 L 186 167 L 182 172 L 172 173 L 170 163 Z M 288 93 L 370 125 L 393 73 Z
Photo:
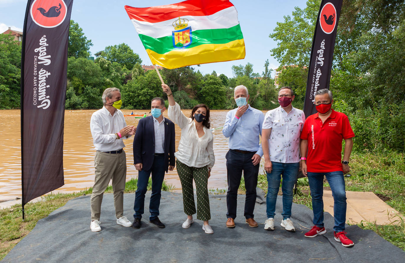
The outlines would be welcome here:
M 336 233 L 345 230 L 346 222 L 346 190 L 345 179 L 342 171 L 329 173 L 310 173 L 308 172 L 309 188 L 311 189 L 313 224 L 317 227 L 324 227 L 324 175 L 328 180 L 333 196 L 333 217 L 335 226 L 333 231 Z

